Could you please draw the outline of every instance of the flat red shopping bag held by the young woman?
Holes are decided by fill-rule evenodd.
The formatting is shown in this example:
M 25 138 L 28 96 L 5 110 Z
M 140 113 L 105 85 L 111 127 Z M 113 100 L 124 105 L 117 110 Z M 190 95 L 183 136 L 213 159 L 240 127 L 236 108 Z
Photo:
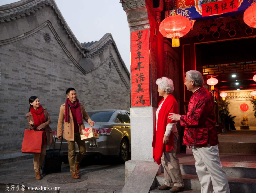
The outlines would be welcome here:
M 25 129 L 22 153 L 41 153 L 43 131 Z

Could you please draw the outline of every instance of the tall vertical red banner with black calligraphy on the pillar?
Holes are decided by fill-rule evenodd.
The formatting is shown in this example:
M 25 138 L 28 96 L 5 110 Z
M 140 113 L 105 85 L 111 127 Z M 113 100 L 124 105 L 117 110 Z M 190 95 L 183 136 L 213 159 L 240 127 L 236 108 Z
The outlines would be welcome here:
M 150 106 L 149 29 L 131 32 L 131 105 Z

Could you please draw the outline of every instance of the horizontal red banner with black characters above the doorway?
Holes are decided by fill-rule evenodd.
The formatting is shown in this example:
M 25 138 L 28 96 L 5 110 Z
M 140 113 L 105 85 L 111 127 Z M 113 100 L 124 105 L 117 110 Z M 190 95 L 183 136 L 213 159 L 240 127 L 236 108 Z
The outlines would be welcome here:
M 238 0 L 223 0 L 202 4 L 202 17 L 238 10 Z

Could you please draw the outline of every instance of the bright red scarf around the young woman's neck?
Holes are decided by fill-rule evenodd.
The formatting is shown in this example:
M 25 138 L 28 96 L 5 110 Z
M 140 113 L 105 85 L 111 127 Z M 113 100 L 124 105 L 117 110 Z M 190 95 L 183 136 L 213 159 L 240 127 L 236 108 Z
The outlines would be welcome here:
M 33 117 L 35 128 L 37 128 L 38 126 L 40 126 L 42 123 L 45 122 L 45 115 L 44 115 L 43 110 L 44 110 L 43 106 L 41 106 L 41 105 L 39 106 L 38 110 L 35 110 L 33 107 L 30 108 L 30 112 L 31 112 L 32 117 Z M 42 130 L 42 131 L 43 131 L 42 145 L 44 145 L 46 134 L 45 134 L 45 130 Z

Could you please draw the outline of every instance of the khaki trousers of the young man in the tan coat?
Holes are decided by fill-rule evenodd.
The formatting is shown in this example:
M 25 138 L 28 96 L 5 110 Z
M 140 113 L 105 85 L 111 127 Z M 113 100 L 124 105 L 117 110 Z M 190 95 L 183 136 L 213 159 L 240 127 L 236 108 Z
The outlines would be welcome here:
M 78 145 L 79 152 L 75 157 L 75 142 Z M 74 141 L 67 141 L 68 145 L 68 161 L 70 172 L 75 173 L 75 164 L 79 165 L 86 152 L 85 141 L 81 140 L 80 133 L 75 133 Z

